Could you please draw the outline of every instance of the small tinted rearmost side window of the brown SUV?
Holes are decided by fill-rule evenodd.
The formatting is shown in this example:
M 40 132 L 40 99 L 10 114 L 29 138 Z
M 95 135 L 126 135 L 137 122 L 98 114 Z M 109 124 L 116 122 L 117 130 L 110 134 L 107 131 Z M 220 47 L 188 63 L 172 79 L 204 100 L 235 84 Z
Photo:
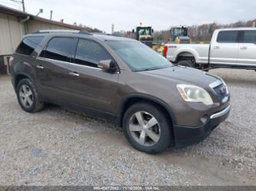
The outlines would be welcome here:
M 19 54 L 30 55 L 42 39 L 43 37 L 26 37 L 22 40 L 21 44 L 18 45 L 16 52 Z

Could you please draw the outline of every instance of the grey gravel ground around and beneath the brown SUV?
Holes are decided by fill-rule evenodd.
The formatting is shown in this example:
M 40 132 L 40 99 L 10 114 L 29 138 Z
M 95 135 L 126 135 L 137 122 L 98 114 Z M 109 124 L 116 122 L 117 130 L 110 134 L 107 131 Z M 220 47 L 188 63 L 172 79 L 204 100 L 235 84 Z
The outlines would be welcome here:
M 218 69 L 231 114 L 204 142 L 151 156 L 107 120 L 19 106 L 0 75 L 0 185 L 256 185 L 256 72 Z

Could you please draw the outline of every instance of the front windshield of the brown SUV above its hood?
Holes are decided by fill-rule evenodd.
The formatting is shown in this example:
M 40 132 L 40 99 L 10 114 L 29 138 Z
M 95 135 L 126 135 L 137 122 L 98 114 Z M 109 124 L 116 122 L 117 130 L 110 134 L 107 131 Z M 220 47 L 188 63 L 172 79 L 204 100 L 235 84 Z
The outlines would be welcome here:
M 132 71 L 150 71 L 172 66 L 171 62 L 141 42 L 108 41 L 107 43 Z

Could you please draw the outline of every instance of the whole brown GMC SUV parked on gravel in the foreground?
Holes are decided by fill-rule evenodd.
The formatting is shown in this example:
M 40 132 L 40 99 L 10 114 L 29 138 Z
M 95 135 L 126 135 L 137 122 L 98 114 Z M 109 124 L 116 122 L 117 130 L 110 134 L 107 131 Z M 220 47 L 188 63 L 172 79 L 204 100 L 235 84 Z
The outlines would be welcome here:
M 174 66 L 128 38 L 37 31 L 22 39 L 9 66 L 23 110 L 53 103 L 110 117 L 145 153 L 203 140 L 231 108 L 220 77 Z

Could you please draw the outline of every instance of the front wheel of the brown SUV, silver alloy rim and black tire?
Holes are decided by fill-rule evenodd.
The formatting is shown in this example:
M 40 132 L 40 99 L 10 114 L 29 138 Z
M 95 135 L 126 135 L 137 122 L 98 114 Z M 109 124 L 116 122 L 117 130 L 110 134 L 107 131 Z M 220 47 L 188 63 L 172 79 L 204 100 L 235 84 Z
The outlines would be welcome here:
M 171 123 L 155 104 L 129 107 L 123 118 L 123 131 L 131 146 L 145 153 L 161 153 L 171 143 Z

